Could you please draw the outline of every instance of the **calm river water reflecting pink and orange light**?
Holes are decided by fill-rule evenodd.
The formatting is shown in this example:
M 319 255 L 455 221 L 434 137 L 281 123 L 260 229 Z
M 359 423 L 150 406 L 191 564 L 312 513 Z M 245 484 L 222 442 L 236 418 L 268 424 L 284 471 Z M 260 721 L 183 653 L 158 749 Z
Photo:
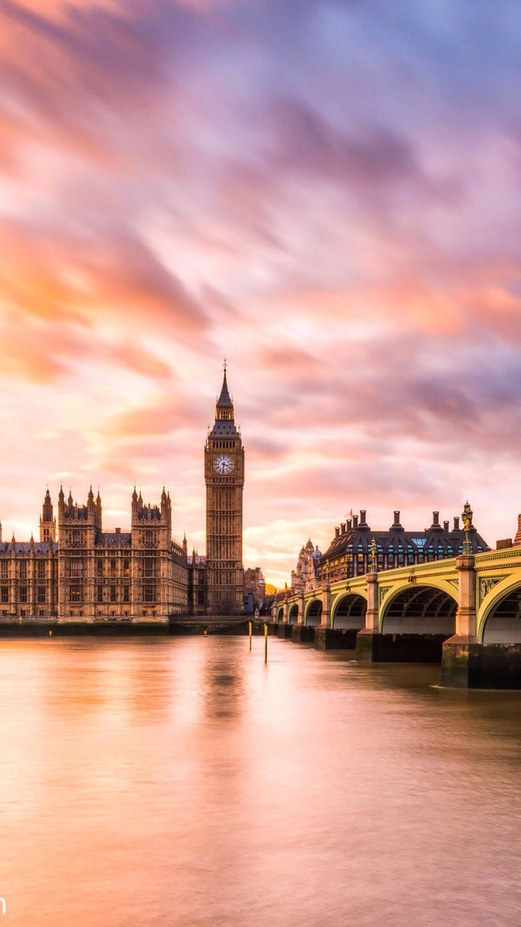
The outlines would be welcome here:
M 521 695 L 269 644 L 0 641 L 6 924 L 521 923 Z

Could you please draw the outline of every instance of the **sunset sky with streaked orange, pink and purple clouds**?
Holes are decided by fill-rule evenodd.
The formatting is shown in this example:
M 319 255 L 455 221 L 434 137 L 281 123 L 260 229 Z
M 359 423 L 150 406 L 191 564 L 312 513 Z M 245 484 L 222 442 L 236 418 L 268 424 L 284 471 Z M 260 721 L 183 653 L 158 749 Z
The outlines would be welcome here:
M 521 511 L 521 9 L 1 0 L 0 518 L 134 482 L 204 551 L 222 360 L 245 565 L 349 510 Z

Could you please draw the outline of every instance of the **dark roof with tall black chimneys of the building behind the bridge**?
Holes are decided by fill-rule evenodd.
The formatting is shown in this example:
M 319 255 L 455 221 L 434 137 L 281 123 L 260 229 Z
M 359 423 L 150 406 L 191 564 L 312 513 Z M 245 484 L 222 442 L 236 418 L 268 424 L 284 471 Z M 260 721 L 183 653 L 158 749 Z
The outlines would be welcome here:
M 478 553 L 489 551 L 489 545 L 477 533 L 472 524 L 469 528 L 469 540 L 472 551 Z M 421 531 L 406 531 L 400 525 L 400 512 L 395 511 L 393 524 L 388 530 L 372 530 L 367 524 L 364 510 L 353 515 L 344 524 L 335 528 L 335 537 L 321 558 L 321 565 L 343 555 L 353 553 L 368 553 L 371 541 L 375 538 L 376 551 L 381 556 L 384 553 L 410 554 L 420 556 L 420 559 L 441 559 L 454 557 L 463 550 L 464 530 L 460 527 L 460 519 L 454 518 L 453 527 L 449 522 L 439 523 L 439 513 L 433 512 L 432 525 Z

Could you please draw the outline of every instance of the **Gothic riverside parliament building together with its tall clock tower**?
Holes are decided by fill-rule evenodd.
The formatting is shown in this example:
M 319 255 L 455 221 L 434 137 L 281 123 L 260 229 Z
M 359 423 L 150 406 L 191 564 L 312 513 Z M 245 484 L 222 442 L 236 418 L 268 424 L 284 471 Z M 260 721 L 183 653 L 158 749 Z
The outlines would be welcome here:
M 204 449 L 207 555 L 172 540 L 172 502 L 133 490 L 130 531 L 103 530 L 92 488 L 86 504 L 49 490 L 39 540 L 3 541 L 0 527 L 0 617 L 55 621 L 168 622 L 172 616 L 235 615 L 243 608 L 242 497 L 244 449 L 226 382 Z

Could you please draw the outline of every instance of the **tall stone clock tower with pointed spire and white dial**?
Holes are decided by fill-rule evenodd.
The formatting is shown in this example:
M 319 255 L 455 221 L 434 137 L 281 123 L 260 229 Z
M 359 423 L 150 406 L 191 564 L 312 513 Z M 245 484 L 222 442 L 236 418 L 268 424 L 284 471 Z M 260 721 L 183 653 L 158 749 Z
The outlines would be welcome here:
M 242 492 L 244 449 L 235 427 L 226 383 L 215 406 L 205 446 L 206 572 L 209 615 L 237 615 L 243 608 Z

